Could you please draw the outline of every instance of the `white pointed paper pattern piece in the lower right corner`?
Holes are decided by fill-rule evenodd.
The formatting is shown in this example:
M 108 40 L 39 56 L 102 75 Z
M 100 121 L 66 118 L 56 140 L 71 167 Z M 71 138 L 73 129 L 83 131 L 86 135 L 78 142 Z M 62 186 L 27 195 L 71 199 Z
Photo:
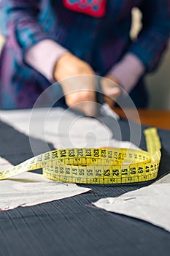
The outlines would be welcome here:
M 98 208 L 142 219 L 170 232 L 170 174 L 154 184 L 120 197 L 107 197 L 93 203 Z

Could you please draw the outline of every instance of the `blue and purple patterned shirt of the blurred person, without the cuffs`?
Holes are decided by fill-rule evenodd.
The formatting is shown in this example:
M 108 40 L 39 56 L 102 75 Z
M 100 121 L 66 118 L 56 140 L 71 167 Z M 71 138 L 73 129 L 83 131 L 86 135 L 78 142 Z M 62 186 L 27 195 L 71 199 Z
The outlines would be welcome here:
M 135 42 L 129 38 L 133 7 L 139 7 L 143 14 L 142 32 Z M 1 0 L 1 33 L 7 37 L 0 56 L 1 108 L 32 107 L 50 86 L 24 59 L 26 51 L 37 42 L 58 42 L 101 76 L 125 53 L 133 53 L 147 72 L 155 68 L 166 48 L 169 20 L 169 0 L 108 0 L 102 18 L 68 10 L 63 0 Z M 137 91 L 138 99 L 141 93 Z

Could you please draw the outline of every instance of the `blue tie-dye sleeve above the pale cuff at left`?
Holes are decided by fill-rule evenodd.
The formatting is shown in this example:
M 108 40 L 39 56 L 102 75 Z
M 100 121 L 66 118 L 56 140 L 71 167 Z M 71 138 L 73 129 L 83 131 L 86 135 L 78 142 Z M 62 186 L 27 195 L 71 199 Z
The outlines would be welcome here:
M 4 22 L 0 24 L 0 30 L 5 31 L 4 27 L 7 27 L 5 36 L 15 37 L 22 51 L 42 39 L 50 39 L 50 35 L 45 33 L 36 20 L 38 12 L 39 1 L 1 0 L 1 17 Z

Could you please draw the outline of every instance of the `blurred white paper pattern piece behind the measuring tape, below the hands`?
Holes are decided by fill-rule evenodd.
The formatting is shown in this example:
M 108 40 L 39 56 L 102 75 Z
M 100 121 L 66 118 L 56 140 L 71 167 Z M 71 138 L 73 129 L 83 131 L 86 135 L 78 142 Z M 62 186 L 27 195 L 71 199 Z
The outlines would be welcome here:
M 0 110 L 0 118 L 33 138 L 53 143 L 55 148 L 125 147 L 137 148 L 128 141 L 115 140 L 112 131 L 96 118 L 77 116 L 62 108 Z

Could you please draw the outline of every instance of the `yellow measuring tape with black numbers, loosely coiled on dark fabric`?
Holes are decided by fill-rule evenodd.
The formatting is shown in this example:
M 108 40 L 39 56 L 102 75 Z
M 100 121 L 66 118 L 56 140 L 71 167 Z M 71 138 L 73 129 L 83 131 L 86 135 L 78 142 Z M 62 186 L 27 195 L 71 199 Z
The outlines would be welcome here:
M 144 130 L 147 151 L 128 148 L 66 148 L 48 151 L 0 172 L 6 179 L 42 168 L 54 181 L 85 184 L 126 184 L 150 181 L 158 175 L 161 142 L 157 129 Z

